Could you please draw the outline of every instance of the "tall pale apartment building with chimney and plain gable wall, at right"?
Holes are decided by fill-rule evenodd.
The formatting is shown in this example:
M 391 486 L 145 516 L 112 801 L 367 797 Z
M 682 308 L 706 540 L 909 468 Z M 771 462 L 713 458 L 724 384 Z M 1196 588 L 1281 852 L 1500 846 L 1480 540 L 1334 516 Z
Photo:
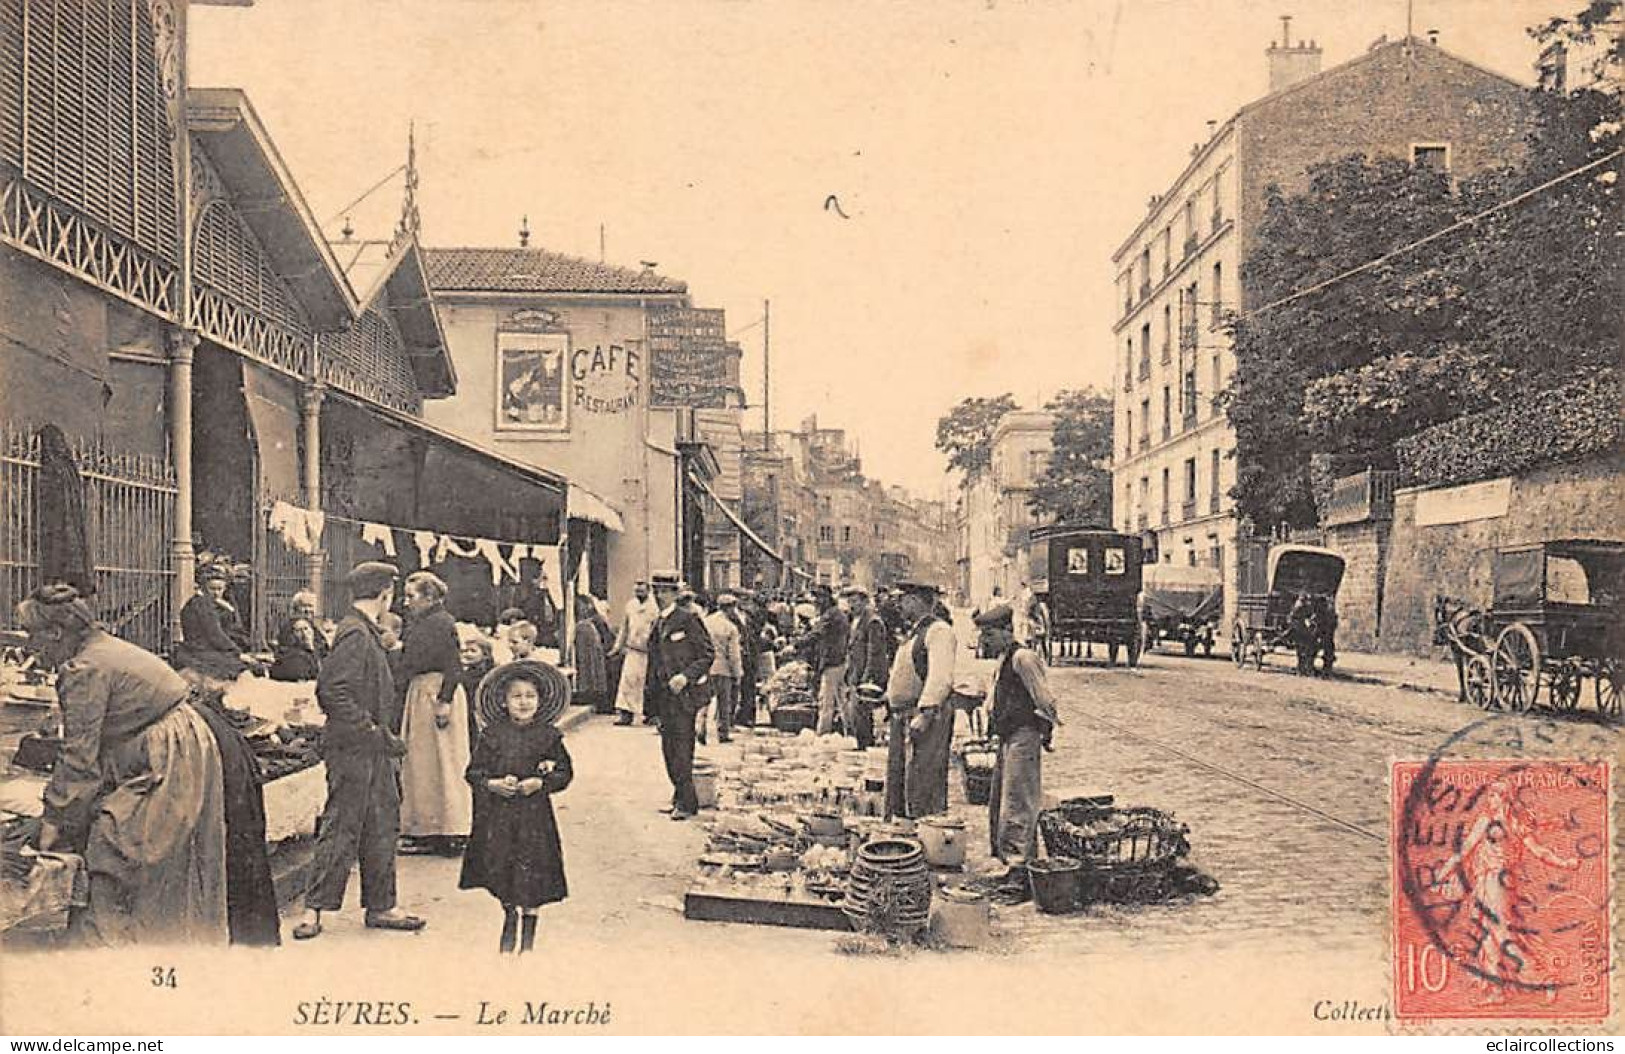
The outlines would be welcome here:
M 1235 370 L 1225 320 L 1248 305 L 1242 268 L 1268 188 L 1300 190 L 1313 164 L 1349 154 L 1453 174 L 1506 164 L 1534 106 L 1516 81 L 1417 37 L 1378 41 L 1326 71 L 1313 41 L 1284 36 L 1266 57 L 1269 94 L 1211 122 L 1112 257 L 1116 526 L 1162 562 L 1222 568 L 1232 609 L 1235 554 L 1253 529 L 1228 497 L 1235 434 L 1219 396 Z

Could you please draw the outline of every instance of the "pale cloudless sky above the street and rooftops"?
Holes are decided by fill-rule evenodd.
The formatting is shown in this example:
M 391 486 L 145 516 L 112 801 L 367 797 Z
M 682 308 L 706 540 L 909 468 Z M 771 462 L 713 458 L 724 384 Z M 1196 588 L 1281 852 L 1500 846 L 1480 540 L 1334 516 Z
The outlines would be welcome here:
M 1580 0 L 1412 0 L 1521 83 Z M 1264 94 L 1292 15 L 1324 68 L 1406 0 L 257 0 L 193 6 L 190 83 L 242 88 L 330 239 L 416 127 L 426 245 L 656 261 L 744 346 L 760 427 L 845 427 L 942 497 L 970 395 L 1110 388 L 1112 252 L 1207 120 Z M 349 211 L 388 237 L 395 177 Z M 835 195 L 840 211 L 826 208 Z

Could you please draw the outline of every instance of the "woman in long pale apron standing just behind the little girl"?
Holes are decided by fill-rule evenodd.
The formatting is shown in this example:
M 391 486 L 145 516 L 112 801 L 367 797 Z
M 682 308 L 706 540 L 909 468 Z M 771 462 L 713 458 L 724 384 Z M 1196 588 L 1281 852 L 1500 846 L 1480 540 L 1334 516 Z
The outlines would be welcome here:
M 468 695 L 445 593 L 445 583 L 431 572 L 406 577 L 401 835 L 453 853 L 462 851 L 460 841 L 473 825 L 473 801 L 463 780 L 470 757 Z

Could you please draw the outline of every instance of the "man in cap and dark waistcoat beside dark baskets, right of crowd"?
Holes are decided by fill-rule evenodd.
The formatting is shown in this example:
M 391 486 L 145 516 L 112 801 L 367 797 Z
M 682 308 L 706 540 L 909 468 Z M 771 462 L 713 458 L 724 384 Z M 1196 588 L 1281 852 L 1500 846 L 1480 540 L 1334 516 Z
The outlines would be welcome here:
M 1038 653 L 1016 640 L 1014 611 L 999 604 L 977 616 L 983 648 L 998 658 L 988 710 L 999 741 L 999 760 L 988 794 L 988 840 L 993 856 L 1025 864 L 1038 849 L 1043 802 L 1043 752 L 1061 718 Z

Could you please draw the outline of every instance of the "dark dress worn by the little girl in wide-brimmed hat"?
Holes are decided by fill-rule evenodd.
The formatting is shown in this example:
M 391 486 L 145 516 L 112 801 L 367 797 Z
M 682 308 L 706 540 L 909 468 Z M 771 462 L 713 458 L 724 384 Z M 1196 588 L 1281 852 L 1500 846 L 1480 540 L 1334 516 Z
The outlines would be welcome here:
M 544 760 L 552 762 L 554 770 L 543 776 L 543 789 L 530 797 L 499 797 L 486 786 L 486 780 L 535 776 Z M 569 895 L 564 851 L 549 796 L 570 786 L 572 775 L 564 736 L 554 726 L 544 721 L 514 724 L 505 718 L 489 724 L 468 763 L 474 832 L 463 853 L 458 887 L 488 890 L 504 905 L 522 908 L 564 900 Z

